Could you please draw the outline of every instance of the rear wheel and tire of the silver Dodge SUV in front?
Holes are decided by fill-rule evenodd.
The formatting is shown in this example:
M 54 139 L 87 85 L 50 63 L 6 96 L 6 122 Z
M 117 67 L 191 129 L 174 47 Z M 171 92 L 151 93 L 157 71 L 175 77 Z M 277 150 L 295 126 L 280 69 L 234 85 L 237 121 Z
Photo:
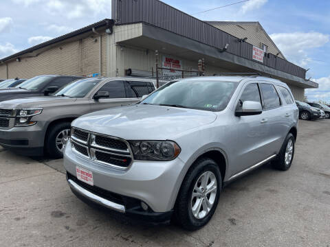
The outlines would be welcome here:
M 294 143 L 294 135 L 292 133 L 287 134 L 281 151 L 278 153 L 277 158 L 272 161 L 274 168 L 286 171 L 291 167 L 292 161 L 294 160 Z

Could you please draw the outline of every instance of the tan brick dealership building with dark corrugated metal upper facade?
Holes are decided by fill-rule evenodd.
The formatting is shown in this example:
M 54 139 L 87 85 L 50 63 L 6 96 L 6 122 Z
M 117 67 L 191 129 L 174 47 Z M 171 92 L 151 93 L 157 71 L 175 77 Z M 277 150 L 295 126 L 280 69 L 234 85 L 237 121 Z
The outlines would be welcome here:
M 156 58 L 159 67 L 186 71 L 203 59 L 205 75 L 260 73 L 286 82 L 300 100 L 318 87 L 259 22 L 200 21 L 158 0 L 112 0 L 111 17 L 2 58 L 0 78 L 155 77 Z

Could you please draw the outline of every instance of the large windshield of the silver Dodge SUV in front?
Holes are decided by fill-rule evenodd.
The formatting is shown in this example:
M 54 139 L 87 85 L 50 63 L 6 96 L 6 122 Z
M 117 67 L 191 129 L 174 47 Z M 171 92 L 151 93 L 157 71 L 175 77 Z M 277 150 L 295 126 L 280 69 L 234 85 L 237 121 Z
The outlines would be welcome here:
M 237 82 L 196 79 L 168 82 L 140 104 L 219 111 L 227 106 L 237 84 Z

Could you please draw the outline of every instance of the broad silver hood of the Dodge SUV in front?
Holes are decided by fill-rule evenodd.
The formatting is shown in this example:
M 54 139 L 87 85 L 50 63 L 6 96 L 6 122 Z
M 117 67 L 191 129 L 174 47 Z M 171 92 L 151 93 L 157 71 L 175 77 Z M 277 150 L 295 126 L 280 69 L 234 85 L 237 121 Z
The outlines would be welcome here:
M 72 126 L 126 140 L 166 140 L 215 119 L 206 110 L 136 104 L 83 115 Z

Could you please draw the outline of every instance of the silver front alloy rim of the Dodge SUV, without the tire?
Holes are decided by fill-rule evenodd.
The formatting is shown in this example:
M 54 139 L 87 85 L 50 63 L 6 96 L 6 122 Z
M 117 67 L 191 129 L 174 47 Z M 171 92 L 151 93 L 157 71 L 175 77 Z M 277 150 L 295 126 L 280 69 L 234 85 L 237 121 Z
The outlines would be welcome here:
M 191 197 L 191 211 L 197 219 L 206 217 L 217 198 L 217 178 L 213 172 L 204 172 L 199 176 Z

